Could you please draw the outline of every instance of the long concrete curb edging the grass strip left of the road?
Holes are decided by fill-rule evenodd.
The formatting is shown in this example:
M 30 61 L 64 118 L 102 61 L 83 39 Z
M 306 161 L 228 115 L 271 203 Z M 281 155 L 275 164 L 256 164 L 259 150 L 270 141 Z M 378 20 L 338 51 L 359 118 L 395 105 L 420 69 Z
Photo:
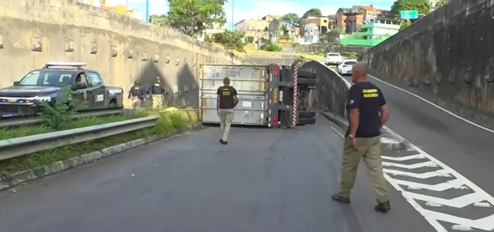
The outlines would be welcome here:
M 129 141 L 123 144 L 118 144 L 109 148 L 102 149 L 100 151 L 91 152 L 84 155 L 75 156 L 66 160 L 57 161 L 54 163 L 46 164 L 31 170 L 24 170 L 10 175 L 8 178 L 0 179 L 0 192 L 16 187 L 26 181 L 36 180 L 41 177 L 49 176 L 58 172 L 65 171 L 70 168 L 78 167 L 84 164 L 89 164 L 95 162 L 98 159 L 108 157 L 111 155 L 116 155 L 121 152 L 137 148 L 161 139 L 169 139 L 183 134 L 188 134 L 194 131 L 203 129 L 202 126 L 199 128 L 191 128 L 188 131 L 182 133 L 175 133 L 172 135 L 154 135 L 147 138 L 137 139 Z

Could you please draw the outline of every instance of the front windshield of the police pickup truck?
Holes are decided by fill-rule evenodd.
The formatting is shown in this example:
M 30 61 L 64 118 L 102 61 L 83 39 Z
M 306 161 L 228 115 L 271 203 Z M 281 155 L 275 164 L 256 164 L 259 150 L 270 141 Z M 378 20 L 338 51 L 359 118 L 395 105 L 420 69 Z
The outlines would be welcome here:
M 19 81 L 19 85 L 67 86 L 73 73 L 72 70 L 31 71 Z

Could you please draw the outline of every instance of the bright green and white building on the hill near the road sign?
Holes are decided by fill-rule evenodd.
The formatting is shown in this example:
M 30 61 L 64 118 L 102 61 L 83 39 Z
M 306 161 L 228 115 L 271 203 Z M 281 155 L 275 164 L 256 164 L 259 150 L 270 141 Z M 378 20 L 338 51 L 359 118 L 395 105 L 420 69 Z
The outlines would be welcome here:
M 400 31 L 400 21 L 386 18 L 371 19 L 364 23 L 358 32 L 344 35 L 340 43 L 344 45 L 375 46 Z

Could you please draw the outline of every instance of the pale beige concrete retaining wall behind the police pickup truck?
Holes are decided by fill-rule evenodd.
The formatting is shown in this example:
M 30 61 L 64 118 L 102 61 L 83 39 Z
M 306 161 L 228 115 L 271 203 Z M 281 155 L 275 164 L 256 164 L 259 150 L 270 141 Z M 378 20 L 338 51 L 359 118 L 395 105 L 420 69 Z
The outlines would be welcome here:
M 176 90 L 170 101 L 198 106 L 199 64 L 240 62 L 209 43 L 72 0 L 2 0 L 0 9 L 0 87 L 46 61 L 82 61 L 126 92 L 136 79 L 162 77 Z

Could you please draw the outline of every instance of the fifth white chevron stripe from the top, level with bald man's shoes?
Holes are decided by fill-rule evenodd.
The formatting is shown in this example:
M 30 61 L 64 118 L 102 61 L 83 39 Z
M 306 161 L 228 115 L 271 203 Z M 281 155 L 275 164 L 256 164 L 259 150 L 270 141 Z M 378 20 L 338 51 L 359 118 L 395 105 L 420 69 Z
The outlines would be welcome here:
M 407 195 L 408 197 L 413 198 L 415 200 L 434 202 L 455 208 L 463 208 L 467 205 L 471 205 L 479 201 L 485 200 L 485 194 L 482 193 L 470 193 L 470 194 L 455 197 L 453 199 L 444 199 L 440 197 L 428 196 L 428 195 L 411 193 L 411 192 L 403 192 L 402 194 Z

